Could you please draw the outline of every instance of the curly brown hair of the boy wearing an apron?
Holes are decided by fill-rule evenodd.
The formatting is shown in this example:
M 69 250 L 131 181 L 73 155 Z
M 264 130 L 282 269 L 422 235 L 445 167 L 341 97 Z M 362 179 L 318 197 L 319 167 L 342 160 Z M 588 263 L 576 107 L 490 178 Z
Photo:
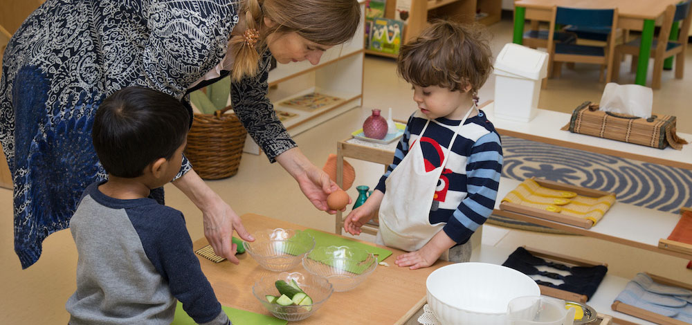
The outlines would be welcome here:
M 397 73 L 410 84 L 465 91 L 474 97 L 493 69 L 486 32 L 477 25 L 437 20 L 401 46 Z

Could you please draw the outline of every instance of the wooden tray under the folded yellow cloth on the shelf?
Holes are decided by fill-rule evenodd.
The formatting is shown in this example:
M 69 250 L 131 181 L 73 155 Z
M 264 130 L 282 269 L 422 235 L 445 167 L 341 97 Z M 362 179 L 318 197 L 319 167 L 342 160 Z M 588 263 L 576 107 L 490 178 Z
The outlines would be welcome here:
M 606 195 L 615 195 L 611 192 L 603 192 L 597 189 L 588 189 L 586 187 L 558 183 L 552 180 L 543 180 L 538 178 L 533 179 L 536 180 L 536 183 L 538 183 L 538 185 L 540 186 L 547 187 L 549 189 L 570 191 L 582 196 L 598 197 Z M 579 218 L 576 216 L 567 216 L 565 214 L 560 214 L 558 212 L 549 212 L 546 210 L 537 209 L 535 207 L 527 207 L 525 205 L 520 205 L 517 203 L 502 202 L 500 203 L 500 210 L 528 214 L 529 216 L 535 216 L 536 218 L 547 219 L 559 223 L 566 223 L 567 225 L 574 225 L 585 229 L 590 229 L 594 225 L 593 221 L 587 219 Z

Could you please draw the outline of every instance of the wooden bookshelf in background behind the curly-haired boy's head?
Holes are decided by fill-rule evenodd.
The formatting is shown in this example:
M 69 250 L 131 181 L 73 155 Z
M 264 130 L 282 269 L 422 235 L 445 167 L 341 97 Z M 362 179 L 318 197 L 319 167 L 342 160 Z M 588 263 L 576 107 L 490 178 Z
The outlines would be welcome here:
M 385 3 L 385 18 L 394 19 L 397 1 L 388 0 Z M 477 10 L 487 14 L 476 19 Z M 421 30 L 428 26 L 428 21 L 435 18 L 450 19 L 462 24 L 477 22 L 485 26 L 500 21 L 502 15 L 502 0 L 411 0 L 410 17 L 404 27 L 403 44 L 413 37 L 420 35 Z M 383 57 L 397 57 L 390 53 L 366 50 L 365 53 Z

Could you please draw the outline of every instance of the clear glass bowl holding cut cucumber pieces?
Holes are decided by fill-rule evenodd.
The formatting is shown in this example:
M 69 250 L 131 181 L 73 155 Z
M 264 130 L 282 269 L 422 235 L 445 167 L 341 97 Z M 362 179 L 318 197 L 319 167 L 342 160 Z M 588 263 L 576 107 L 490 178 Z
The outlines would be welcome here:
M 279 290 L 275 286 L 277 280 L 291 282 L 295 280 L 301 290 L 304 291 L 313 301 L 311 305 L 304 306 L 281 306 L 280 304 L 271 304 L 266 300 L 266 295 L 278 296 Z M 310 317 L 315 313 L 322 304 L 331 297 L 334 292 L 334 287 L 324 277 L 311 274 L 303 274 L 301 272 L 281 272 L 271 273 L 262 276 L 253 285 L 253 295 L 259 300 L 264 308 L 269 310 L 274 317 L 287 320 L 289 322 L 297 322 Z

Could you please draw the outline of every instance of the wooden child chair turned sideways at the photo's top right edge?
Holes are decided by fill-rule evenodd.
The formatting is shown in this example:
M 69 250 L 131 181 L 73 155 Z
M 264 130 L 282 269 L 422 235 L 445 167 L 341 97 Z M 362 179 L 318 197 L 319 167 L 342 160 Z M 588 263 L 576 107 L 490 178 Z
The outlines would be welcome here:
M 679 36 L 675 40 L 661 41 L 668 39 L 671 35 L 671 30 L 675 22 L 682 21 L 680 25 Z M 690 23 L 692 21 L 692 5 L 691 1 L 678 3 L 676 6 L 668 6 L 664 12 L 664 18 L 659 34 L 651 44 L 651 57 L 654 59 L 653 76 L 651 78 L 651 88 L 661 88 L 661 75 L 663 73 L 664 61 L 666 57 L 675 56 L 675 79 L 682 79 L 685 66 L 685 54 L 687 50 L 687 37 L 689 35 Z M 676 30 L 677 31 L 677 30 Z M 623 55 L 632 55 L 631 71 L 636 70 L 637 61 L 639 59 L 639 46 L 641 39 L 633 39 L 626 44 L 621 44 L 615 48 L 615 58 L 621 59 Z M 619 64 L 615 64 L 613 68 L 613 77 L 615 80 L 619 77 Z

